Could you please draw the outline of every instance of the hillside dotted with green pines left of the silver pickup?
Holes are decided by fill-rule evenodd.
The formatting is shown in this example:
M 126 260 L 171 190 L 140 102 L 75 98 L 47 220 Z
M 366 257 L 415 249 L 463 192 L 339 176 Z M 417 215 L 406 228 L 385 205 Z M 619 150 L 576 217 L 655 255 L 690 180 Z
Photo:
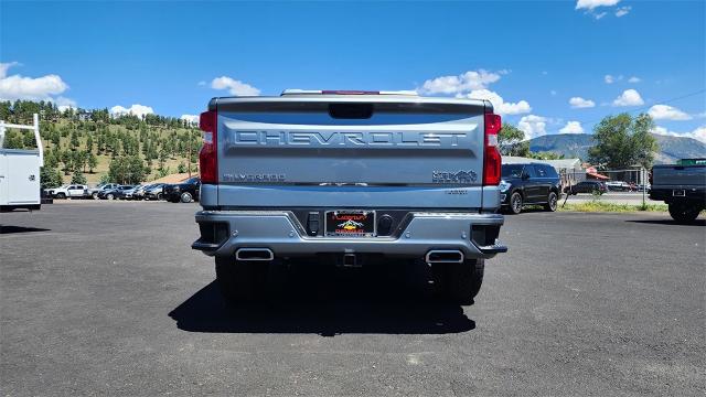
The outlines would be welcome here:
M 45 187 L 68 182 L 139 183 L 189 169 L 197 173 L 201 135 L 189 121 L 115 116 L 108 109 L 60 111 L 49 101 L 0 101 L 0 120 L 6 122 L 31 125 L 35 112 L 45 153 Z M 34 148 L 34 136 L 8 129 L 3 147 Z

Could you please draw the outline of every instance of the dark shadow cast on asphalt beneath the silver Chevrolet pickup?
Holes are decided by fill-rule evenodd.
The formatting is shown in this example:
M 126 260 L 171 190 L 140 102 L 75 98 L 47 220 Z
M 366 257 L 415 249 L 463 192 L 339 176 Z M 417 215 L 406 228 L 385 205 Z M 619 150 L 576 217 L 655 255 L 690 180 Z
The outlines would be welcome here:
M 321 269 L 319 269 L 321 270 Z M 402 271 L 403 269 L 398 269 Z M 435 302 L 430 286 L 376 269 L 285 270 L 263 303 L 226 305 L 216 281 L 169 315 L 190 332 L 445 334 L 473 330 L 458 304 Z M 404 275 L 404 276 L 403 276 Z M 393 276 L 396 276 L 394 278 Z M 402 277 L 400 277 L 402 276 Z

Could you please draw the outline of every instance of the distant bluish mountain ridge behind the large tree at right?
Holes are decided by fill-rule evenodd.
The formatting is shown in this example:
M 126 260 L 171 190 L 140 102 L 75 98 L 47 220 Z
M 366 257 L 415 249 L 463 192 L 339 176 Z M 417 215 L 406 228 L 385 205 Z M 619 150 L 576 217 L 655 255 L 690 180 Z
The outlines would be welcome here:
M 674 163 L 680 159 L 706 158 L 706 144 L 693 138 L 652 135 L 660 146 L 654 157 L 657 164 Z M 546 135 L 530 140 L 533 152 L 554 152 L 565 158 L 588 159 L 588 149 L 593 146 L 593 136 L 589 133 Z

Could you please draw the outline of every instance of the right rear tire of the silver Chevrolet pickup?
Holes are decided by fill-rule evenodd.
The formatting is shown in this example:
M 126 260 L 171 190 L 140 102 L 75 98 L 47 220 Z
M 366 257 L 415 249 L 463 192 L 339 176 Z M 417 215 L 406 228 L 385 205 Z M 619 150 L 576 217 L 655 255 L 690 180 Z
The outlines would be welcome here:
M 472 304 L 483 283 L 484 259 L 467 259 L 461 264 L 434 264 L 431 272 L 437 296 L 453 304 Z

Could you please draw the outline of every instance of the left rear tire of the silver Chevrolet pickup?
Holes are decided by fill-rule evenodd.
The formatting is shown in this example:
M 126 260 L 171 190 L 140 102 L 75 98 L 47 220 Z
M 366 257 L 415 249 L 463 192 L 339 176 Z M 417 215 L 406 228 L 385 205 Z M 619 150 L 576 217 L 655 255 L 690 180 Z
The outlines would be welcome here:
M 253 303 L 267 287 L 268 262 L 216 257 L 216 281 L 228 304 Z

